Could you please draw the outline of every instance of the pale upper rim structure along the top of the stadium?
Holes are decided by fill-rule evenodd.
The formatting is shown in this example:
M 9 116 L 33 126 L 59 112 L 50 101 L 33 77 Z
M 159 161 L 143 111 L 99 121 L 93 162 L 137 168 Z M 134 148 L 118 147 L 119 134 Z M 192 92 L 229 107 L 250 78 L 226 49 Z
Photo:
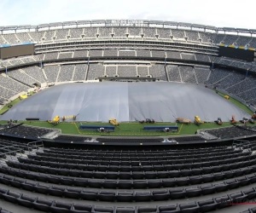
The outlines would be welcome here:
M 116 20 L 115 20 L 116 21 Z M 113 26 L 123 26 L 121 23 L 122 20 L 115 22 Z M 132 20 L 131 20 L 132 21 Z M 241 33 L 252 33 L 256 34 L 255 29 L 243 29 L 243 28 L 233 28 L 233 27 L 216 27 L 216 26 L 205 26 L 205 25 L 198 25 L 192 23 L 185 23 L 185 22 L 176 22 L 176 21 L 163 21 L 163 20 L 139 20 L 140 26 L 151 26 L 151 25 L 159 25 L 163 27 L 168 26 L 184 26 L 189 28 L 201 28 L 205 30 L 211 30 L 215 32 L 241 32 Z M 73 21 L 65 21 L 65 22 L 55 22 L 55 23 L 47 23 L 47 24 L 40 24 L 38 26 L 31 26 L 31 25 L 23 25 L 23 26 L 0 26 L 0 31 L 17 31 L 17 30 L 24 30 L 24 29 L 34 29 L 38 31 L 38 29 L 56 27 L 56 26 L 80 26 L 80 25 L 90 25 L 90 26 L 109 26 L 113 23 L 113 20 L 73 20 Z M 143 24 L 142 24 L 143 23 Z M 136 25 L 129 25 L 129 26 L 136 26 Z

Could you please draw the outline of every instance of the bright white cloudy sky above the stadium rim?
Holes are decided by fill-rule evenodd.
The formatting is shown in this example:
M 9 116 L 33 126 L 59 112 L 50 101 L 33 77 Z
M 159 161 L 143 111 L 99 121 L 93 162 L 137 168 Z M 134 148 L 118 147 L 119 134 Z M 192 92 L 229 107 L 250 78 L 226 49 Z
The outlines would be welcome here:
M 68 20 L 172 20 L 256 29 L 256 0 L 0 0 L 0 26 Z

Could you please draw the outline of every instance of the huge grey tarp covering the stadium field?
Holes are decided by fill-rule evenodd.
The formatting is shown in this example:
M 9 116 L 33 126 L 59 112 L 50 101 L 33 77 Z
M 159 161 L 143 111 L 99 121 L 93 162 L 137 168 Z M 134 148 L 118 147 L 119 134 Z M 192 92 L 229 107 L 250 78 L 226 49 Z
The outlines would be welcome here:
M 79 115 L 78 115 L 79 114 Z M 214 121 L 249 118 L 247 112 L 217 95 L 212 89 L 187 83 L 65 83 L 44 89 L 12 107 L 2 120 L 78 115 L 78 121 L 119 122 L 154 118 L 175 121 L 174 117 Z

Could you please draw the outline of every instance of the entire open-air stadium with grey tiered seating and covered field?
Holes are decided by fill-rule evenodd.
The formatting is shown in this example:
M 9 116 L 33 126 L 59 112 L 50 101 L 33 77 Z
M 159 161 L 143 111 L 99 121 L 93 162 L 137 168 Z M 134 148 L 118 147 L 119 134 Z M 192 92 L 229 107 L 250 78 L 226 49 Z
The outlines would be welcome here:
M 256 30 L 0 31 L 1 212 L 256 212 Z

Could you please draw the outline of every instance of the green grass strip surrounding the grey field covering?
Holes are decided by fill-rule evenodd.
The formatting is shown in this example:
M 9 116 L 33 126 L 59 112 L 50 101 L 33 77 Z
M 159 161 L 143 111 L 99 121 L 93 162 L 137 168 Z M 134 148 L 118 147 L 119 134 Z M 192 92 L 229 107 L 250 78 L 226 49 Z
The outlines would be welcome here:
M 224 94 L 218 93 L 218 95 L 224 96 Z M 12 101 L 10 104 L 15 105 L 20 101 L 20 99 L 16 99 L 15 101 Z M 253 112 L 241 102 L 236 101 L 233 98 L 230 98 L 230 101 L 236 106 L 240 107 L 244 111 L 246 111 L 249 114 L 253 114 Z M 4 112 L 8 107 L 3 107 L 2 110 L 0 110 L 0 113 Z M 139 124 L 139 123 L 121 123 L 119 124 L 119 127 L 116 127 L 115 130 L 111 133 L 99 133 L 96 130 L 79 130 L 80 124 L 89 124 L 89 125 L 110 125 L 108 123 L 79 123 L 79 122 L 65 122 L 60 123 L 56 126 L 53 126 L 52 124 L 49 124 L 45 121 L 19 121 L 19 123 L 24 123 L 27 125 L 32 126 L 38 126 L 38 127 L 44 127 L 44 128 L 54 128 L 54 129 L 61 129 L 61 132 L 63 134 L 73 134 L 73 135 L 113 135 L 113 136 L 164 136 L 164 135 L 194 135 L 196 130 L 203 130 L 203 129 L 212 129 L 212 128 L 220 128 L 220 127 L 227 127 L 230 126 L 230 123 L 224 123 L 222 126 L 218 126 L 214 123 L 205 123 L 201 124 L 200 127 L 198 127 L 195 124 L 177 124 L 179 127 L 179 130 L 177 132 L 173 133 L 165 133 L 165 132 L 155 132 L 155 131 L 143 131 L 143 127 L 147 125 L 176 125 L 175 123 L 157 123 L 157 124 Z M 6 124 L 6 121 L 0 121 L 0 124 Z M 248 124 L 250 125 L 250 124 Z

